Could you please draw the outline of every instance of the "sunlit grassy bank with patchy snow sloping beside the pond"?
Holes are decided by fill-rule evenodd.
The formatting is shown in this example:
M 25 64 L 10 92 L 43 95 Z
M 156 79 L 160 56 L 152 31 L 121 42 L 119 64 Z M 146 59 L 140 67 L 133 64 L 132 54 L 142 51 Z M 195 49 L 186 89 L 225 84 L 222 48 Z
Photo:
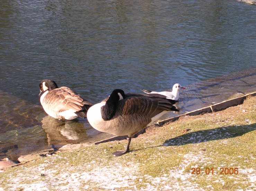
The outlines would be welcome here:
M 111 153 L 124 149 L 126 141 L 9 168 L 0 173 L 0 191 L 256 190 L 255 97 L 223 111 L 150 127 L 132 139 L 129 153 L 114 157 Z

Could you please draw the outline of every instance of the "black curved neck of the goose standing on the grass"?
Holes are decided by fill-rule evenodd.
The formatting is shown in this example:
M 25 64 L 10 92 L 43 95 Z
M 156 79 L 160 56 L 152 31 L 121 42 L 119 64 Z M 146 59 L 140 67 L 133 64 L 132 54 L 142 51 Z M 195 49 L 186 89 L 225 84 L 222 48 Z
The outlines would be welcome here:
M 106 101 L 106 104 L 103 107 L 101 107 L 101 117 L 102 119 L 104 119 L 104 121 L 111 120 L 114 117 L 116 113 L 118 100 L 119 96 L 117 98 L 115 94 L 111 94 L 108 100 Z

